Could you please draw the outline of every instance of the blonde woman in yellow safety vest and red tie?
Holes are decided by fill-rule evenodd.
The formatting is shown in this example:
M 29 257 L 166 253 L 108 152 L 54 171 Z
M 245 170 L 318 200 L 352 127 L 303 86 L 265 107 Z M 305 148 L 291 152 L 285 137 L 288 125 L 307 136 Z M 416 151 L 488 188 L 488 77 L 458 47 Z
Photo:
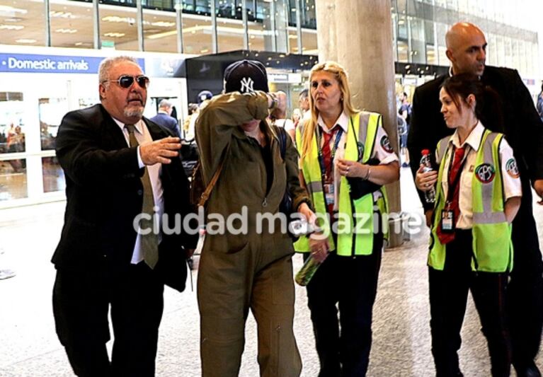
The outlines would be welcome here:
M 341 65 L 314 66 L 309 92 L 300 167 L 321 233 L 295 248 L 322 261 L 307 285 L 319 376 L 365 376 L 384 236 L 372 218 L 386 211 L 382 185 L 399 179 L 398 157 L 381 115 L 351 104 Z

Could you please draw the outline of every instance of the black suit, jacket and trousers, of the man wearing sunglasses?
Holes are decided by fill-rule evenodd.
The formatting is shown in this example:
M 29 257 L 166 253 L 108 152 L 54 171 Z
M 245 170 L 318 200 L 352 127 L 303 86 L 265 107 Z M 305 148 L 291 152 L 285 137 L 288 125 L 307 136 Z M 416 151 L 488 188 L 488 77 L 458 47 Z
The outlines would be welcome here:
M 153 139 L 171 136 L 144 122 Z M 56 143 L 67 181 L 64 227 L 52 257 L 59 340 L 79 376 L 154 376 L 163 309 L 161 262 L 164 265 L 165 255 L 181 255 L 183 245 L 192 248 L 195 239 L 163 234 L 154 270 L 144 262 L 131 265 L 137 236 L 132 221 L 143 200 L 144 169 L 139 168 L 137 149 L 127 146 L 121 128 L 102 105 L 65 115 Z M 181 160 L 163 164 L 160 180 L 172 228 L 173 214 L 184 216 L 191 210 Z M 184 284 L 185 265 L 178 265 L 176 272 Z M 115 333 L 111 365 L 105 352 L 109 305 Z

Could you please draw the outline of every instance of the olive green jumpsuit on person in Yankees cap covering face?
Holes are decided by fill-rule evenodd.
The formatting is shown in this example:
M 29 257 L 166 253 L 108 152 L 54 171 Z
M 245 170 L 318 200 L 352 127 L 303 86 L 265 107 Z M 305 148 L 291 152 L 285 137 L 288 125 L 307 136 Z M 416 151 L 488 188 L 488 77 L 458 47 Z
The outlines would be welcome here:
M 265 93 L 235 92 L 213 98 L 196 124 L 205 185 L 217 170 L 223 151 L 228 151 L 207 202 L 208 233 L 198 272 L 200 354 L 205 377 L 238 375 L 249 308 L 258 325 L 261 376 L 299 376 L 302 369 L 292 330 L 292 240 L 278 230 L 270 233 L 268 223 L 258 234 L 256 214 L 277 213 L 285 187 L 289 187 L 293 208 L 309 202 L 309 197 L 299 185 L 298 155 L 290 137 L 283 161 L 277 137 L 265 121 L 261 122 L 273 160 L 273 182 L 268 185 L 261 146 L 238 127 L 253 119 L 265 120 L 267 115 Z M 241 214 L 244 206 L 248 212 L 245 234 L 210 234 L 210 214 L 226 219 L 229 214 Z M 236 228 L 239 224 L 234 221 Z

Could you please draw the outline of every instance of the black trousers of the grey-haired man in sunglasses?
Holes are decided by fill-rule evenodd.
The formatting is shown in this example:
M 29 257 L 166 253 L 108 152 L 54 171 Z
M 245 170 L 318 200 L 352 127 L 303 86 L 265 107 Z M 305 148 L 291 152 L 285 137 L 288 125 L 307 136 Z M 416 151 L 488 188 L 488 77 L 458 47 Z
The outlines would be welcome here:
M 138 265 L 57 269 L 53 313 L 60 342 L 79 377 L 152 377 L 164 284 Z M 113 352 L 108 311 L 111 306 Z

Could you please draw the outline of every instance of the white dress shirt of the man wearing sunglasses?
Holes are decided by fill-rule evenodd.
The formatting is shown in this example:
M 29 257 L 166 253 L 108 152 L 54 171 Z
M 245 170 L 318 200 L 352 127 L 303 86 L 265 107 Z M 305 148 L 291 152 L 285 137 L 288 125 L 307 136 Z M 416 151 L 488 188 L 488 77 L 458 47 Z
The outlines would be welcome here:
M 115 123 L 118 124 L 120 129 L 122 130 L 122 134 L 125 135 L 127 146 L 130 146 L 130 136 L 128 134 L 127 129 L 125 128 L 125 124 L 116 120 Z M 136 124 L 134 124 L 134 127 L 136 127 L 136 132 L 134 132 L 134 135 L 136 137 L 136 140 L 138 144 L 142 144 L 144 142 L 151 142 L 153 141 L 153 138 L 151 137 L 151 134 L 149 134 L 149 129 L 147 129 L 147 126 L 145 125 L 145 122 L 143 120 L 139 120 Z M 143 168 L 145 164 L 142 161 L 142 156 L 139 154 L 139 146 L 137 147 L 137 161 L 139 163 L 139 168 Z M 158 211 L 156 213 L 159 215 L 159 229 L 161 229 L 161 219 L 162 214 L 164 214 L 164 190 L 162 190 L 162 181 L 160 180 L 162 170 L 162 164 L 161 163 L 155 163 L 154 165 L 147 166 L 147 172 L 149 173 L 149 180 L 151 181 L 151 187 L 153 187 L 153 198 L 154 198 L 154 207 L 159 207 Z M 159 243 L 162 240 L 161 233 L 159 233 Z M 142 262 L 143 260 L 143 252 L 141 250 L 141 244 L 142 244 L 142 235 L 137 234 L 136 237 L 136 243 L 134 245 L 134 252 L 132 253 L 132 260 L 130 261 L 132 265 L 137 265 L 139 262 Z

